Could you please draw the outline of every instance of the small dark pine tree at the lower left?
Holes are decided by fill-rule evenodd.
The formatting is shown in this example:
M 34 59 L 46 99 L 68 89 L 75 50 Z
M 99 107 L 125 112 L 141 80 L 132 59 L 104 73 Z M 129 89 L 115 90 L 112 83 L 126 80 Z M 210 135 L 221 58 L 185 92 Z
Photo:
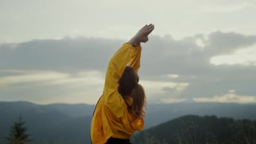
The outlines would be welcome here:
M 28 134 L 25 134 L 27 128 L 24 127 L 26 122 L 22 121 L 22 117 L 19 116 L 19 122 L 14 122 L 13 126 L 11 126 L 10 134 L 6 139 L 8 139 L 8 144 L 25 144 L 28 141 L 32 141 L 29 138 Z

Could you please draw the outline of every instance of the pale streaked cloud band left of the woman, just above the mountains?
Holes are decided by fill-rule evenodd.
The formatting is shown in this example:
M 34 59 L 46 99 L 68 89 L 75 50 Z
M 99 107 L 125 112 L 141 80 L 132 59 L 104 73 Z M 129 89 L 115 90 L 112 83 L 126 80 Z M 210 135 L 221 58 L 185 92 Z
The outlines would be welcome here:
M 2 72 L 6 71 L 10 72 L 10 70 Z M 37 104 L 95 104 L 104 87 L 104 77 L 99 71 L 61 73 L 14 70 L 14 72 L 18 74 L 11 73 L 0 78 L 2 100 L 32 101 Z

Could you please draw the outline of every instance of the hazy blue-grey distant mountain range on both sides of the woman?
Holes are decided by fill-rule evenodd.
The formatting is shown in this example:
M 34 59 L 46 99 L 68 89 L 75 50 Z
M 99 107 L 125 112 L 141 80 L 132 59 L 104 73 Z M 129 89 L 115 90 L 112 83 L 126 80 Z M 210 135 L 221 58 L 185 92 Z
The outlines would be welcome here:
M 0 102 L 0 144 L 5 144 L 10 126 L 22 115 L 31 144 L 90 144 L 90 125 L 95 105 L 48 104 L 26 101 Z M 175 103 L 149 104 L 145 129 L 184 115 L 216 115 L 256 119 L 256 104 Z

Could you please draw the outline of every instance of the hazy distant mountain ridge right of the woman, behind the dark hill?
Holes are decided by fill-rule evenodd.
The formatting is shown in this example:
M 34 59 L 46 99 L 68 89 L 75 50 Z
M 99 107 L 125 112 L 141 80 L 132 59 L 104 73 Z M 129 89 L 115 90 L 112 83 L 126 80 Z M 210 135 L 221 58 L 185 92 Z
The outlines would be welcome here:
M 256 119 L 256 104 L 235 103 L 175 103 L 149 104 L 145 116 L 145 128 L 158 125 L 183 115 L 216 115 L 237 119 Z

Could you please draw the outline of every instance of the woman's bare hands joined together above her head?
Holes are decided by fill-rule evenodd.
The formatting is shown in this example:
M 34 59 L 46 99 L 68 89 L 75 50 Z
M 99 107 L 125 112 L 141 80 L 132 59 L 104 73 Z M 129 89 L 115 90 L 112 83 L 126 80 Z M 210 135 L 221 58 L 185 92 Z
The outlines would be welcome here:
M 155 29 L 154 24 L 145 25 L 142 27 L 137 34 L 131 38 L 131 40 L 128 42 L 131 45 L 134 45 L 135 43 L 146 43 L 149 40 L 148 35 Z

